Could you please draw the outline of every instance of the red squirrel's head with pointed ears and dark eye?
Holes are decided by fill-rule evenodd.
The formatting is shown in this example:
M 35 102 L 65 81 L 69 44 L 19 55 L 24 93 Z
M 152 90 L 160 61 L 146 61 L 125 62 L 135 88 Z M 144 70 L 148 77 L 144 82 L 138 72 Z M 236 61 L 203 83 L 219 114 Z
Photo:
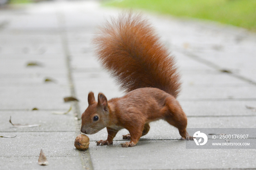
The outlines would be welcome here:
M 95 101 L 94 93 L 88 94 L 89 106 L 82 114 L 81 132 L 95 134 L 105 128 L 109 121 L 109 106 L 106 96 L 98 94 L 98 102 Z

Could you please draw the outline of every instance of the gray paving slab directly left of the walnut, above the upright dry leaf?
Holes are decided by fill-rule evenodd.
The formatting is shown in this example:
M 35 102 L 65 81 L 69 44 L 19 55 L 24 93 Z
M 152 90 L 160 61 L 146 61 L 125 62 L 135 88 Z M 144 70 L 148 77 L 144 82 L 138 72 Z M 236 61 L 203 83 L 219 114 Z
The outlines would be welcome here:
M 78 157 L 75 132 L 3 132 L 0 157 L 36 157 L 42 149 L 46 157 Z

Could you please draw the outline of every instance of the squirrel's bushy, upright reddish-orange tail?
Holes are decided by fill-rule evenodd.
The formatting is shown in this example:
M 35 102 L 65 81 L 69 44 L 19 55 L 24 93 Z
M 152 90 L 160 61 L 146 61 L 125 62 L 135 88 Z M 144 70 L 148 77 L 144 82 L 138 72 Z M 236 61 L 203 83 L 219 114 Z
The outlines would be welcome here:
M 112 19 L 93 42 L 103 66 L 127 92 L 152 87 L 177 97 L 180 78 L 174 59 L 142 16 L 127 13 Z

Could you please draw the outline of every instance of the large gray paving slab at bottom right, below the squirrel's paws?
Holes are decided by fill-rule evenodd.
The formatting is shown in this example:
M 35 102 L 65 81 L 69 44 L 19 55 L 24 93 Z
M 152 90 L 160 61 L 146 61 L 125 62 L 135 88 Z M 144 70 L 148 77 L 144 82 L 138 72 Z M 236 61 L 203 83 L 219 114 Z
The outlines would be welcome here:
M 248 157 L 254 155 L 253 149 L 186 149 L 182 140 L 140 141 L 132 148 L 122 148 L 120 143 L 90 146 L 94 169 L 250 169 L 256 166 L 254 158 Z M 132 162 L 128 163 L 130 159 Z

